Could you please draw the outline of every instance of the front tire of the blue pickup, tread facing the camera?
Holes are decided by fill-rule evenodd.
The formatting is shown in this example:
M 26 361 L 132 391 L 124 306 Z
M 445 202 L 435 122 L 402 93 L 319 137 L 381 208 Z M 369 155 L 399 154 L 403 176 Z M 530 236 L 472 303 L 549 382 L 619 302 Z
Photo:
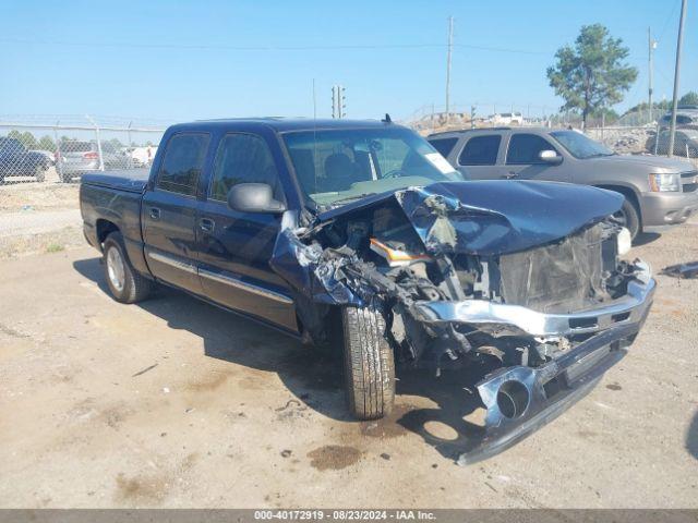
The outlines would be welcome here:
M 345 378 L 351 414 L 377 419 L 395 401 L 395 362 L 385 338 L 385 319 L 374 307 L 344 307 Z

